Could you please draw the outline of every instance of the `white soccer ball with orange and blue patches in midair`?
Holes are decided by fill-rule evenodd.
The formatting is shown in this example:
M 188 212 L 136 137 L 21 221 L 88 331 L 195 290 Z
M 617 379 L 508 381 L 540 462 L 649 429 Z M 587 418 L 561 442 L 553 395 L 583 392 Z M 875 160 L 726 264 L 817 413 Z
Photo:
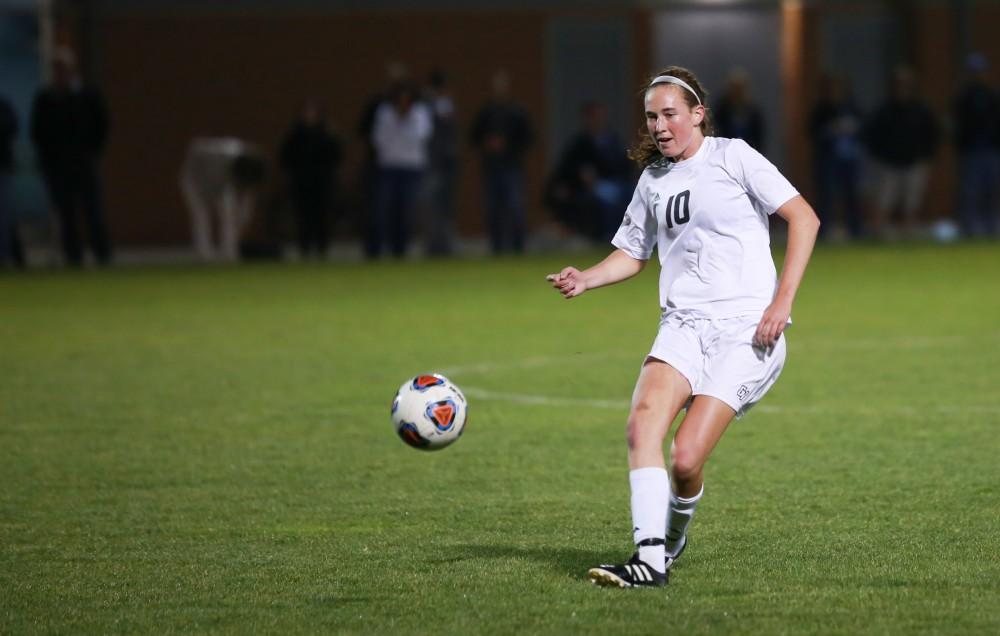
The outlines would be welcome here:
M 392 400 L 396 433 L 420 450 L 438 450 L 454 442 L 465 429 L 467 415 L 462 391 L 437 373 L 407 380 Z

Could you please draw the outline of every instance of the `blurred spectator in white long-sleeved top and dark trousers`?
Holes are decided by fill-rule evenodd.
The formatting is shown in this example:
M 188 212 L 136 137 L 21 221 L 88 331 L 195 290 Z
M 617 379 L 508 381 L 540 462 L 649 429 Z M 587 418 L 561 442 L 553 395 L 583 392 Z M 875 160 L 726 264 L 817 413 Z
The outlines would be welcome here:
M 365 253 L 377 258 L 388 242 L 393 256 L 406 254 L 420 178 L 427 169 L 427 144 L 434 129 L 430 109 L 417 89 L 401 82 L 378 107 L 372 143 L 378 166 L 374 214 L 368 219 Z

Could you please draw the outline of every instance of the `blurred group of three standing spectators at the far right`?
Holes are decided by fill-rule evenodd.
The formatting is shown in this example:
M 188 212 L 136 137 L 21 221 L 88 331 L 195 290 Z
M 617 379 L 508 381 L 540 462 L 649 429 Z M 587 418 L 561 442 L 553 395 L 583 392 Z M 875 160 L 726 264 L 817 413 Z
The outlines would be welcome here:
M 1000 97 L 987 82 L 982 55 L 970 55 L 965 67 L 950 113 L 934 111 L 909 68 L 895 70 L 885 101 L 867 114 L 846 78 L 823 79 L 809 117 L 821 232 L 839 223 L 852 239 L 920 236 L 918 213 L 948 130 L 958 159 L 956 213 L 949 216 L 957 217 L 958 226 L 946 219 L 936 226 L 936 237 L 949 240 L 959 231 L 996 237 Z

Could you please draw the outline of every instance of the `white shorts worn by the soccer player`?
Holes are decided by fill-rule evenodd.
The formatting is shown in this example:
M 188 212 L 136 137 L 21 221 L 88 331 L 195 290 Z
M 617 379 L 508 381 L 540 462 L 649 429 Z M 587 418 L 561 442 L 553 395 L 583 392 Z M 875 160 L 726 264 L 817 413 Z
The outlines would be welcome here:
M 649 356 L 677 369 L 692 395 L 710 395 L 741 417 L 774 385 L 785 365 L 785 335 L 770 350 L 753 346 L 760 318 L 672 313 L 660 321 Z

